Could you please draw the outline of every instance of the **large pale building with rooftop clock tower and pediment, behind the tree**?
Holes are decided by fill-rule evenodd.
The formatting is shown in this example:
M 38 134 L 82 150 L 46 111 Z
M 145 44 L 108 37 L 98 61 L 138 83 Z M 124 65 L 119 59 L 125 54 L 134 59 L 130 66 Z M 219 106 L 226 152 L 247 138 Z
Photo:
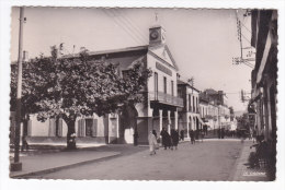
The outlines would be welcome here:
M 72 57 L 78 55 L 72 55 Z M 128 70 L 135 62 L 140 61 L 152 71 L 144 92 L 146 102 L 129 108 L 123 114 L 109 114 L 104 117 L 96 115 L 77 118 L 76 133 L 78 142 L 102 143 L 138 143 L 148 142 L 148 133 L 162 128 L 170 131 L 178 129 L 178 110 L 183 107 L 183 99 L 178 97 L 178 66 L 166 44 L 166 31 L 160 25 L 149 28 L 149 45 L 89 52 L 91 59 L 105 59 L 117 63 L 119 72 Z M 62 57 L 68 59 L 71 56 Z M 195 103 L 197 104 L 197 103 Z M 197 110 L 197 106 L 195 106 Z M 22 130 L 30 141 L 65 142 L 67 124 L 62 119 L 49 119 L 46 122 L 31 116 L 30 122 Z

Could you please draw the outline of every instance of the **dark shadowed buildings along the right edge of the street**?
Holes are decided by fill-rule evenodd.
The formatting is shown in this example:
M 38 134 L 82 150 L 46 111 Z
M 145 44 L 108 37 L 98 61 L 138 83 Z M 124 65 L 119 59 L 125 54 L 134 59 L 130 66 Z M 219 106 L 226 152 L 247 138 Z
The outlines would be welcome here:
M 252 128 L 264 136 L 272 177 L 275 176 L 277 142 L 277 10 L 251 11 L 251 46 L 255 48 L 255 66 L 251 72 L 251 99 L 248 111 Z

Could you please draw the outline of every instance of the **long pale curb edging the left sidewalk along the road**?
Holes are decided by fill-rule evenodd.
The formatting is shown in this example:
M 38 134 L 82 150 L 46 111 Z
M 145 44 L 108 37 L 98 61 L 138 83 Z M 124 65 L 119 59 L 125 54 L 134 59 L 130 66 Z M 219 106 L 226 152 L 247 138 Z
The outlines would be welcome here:
M 58 166 L 58 167 L 43 169 L 43 170 L 37 170 L 37 171 L 31 171 L 31 173 L 27 171 L 27 173 L 21 174 L 21 175 L 12 175 L 12 176 L 10 176 L 10 178 L 13 178 L 13 179 L 19 179 L 19 178 L 25 179 L 25 178 L 27 178 L 27 176 L 44 175 L 44 174 L 55 173 L 55 171 L 62 170 L 62 169 L 68 169 L 68 168 L 76 167 L 76 166 L 81 166 L 81 165 L 86 165 L 86 164 L 91 164 L 91 163 L 96 163 L 96 162 L 112 159 L 112 158 L 118 157 L 122 153 L 116 153 L 114 155 L 110 155 L 110 156 L 105 156 L 105 157 L 101 157 L 101 158 L 83 161 L 83 162 L 79 162 L 79 163 L 73 163 L 73 164 L 69 164 L 69 165 Z

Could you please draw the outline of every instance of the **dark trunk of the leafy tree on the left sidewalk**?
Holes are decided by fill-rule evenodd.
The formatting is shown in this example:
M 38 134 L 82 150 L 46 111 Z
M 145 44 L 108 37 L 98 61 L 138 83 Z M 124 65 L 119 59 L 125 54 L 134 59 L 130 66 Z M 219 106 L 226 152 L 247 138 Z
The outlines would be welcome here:
M 64 117 L 67 123 L 67 150 L 76 150 L 76 117 Z

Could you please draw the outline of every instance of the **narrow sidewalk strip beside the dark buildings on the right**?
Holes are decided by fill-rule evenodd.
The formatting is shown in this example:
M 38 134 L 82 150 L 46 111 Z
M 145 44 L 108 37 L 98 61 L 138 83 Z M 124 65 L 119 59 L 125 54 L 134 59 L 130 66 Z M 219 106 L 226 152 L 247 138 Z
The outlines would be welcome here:
M 247 140 L 243 142 L 240 156 L 236 162 L 235 170 L 229 176 L 229 181 L 269 181 L 264 168 L 249 168 L 248 157 L 254 149 L 250 149 L 252 141 Z

